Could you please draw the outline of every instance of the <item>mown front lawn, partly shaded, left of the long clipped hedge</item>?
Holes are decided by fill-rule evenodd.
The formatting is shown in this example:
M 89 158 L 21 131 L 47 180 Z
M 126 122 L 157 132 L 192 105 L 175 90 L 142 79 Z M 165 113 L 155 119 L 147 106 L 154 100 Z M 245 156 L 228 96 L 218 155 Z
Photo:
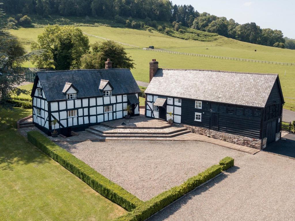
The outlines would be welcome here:
M 30 113 L 0 110 L 0 220 L 112 220 L 124 214 L 17 132 L 16 121 Z

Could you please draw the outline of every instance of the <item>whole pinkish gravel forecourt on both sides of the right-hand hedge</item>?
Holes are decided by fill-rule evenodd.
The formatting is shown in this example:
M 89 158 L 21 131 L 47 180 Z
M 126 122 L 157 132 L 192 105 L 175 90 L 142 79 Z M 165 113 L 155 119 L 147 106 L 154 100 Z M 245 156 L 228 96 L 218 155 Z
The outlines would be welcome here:
M 201 141 L 57 143 L 142 200 L 183 183 L 225 156 L 235 166 L 149 220 L 295 220 L 295 160 Z

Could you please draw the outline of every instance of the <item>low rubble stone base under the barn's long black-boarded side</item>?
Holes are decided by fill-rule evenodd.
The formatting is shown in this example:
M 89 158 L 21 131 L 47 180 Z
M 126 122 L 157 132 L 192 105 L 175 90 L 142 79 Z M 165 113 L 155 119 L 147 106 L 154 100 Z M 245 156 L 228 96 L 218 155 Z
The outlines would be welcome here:
M 220 132 L 220 131 L 214 131 L 214 130 L 210 130 L 207 128 L 190 126 L 190 125 L 186 125 L 186 124 L 181 124 L 181 126 L 188 128 L 193 133 L 201 134 L 204 136 L 210 136 L 212 138 L 219 139 L 222 141 L 227 141 L 227 142 L 230 142 L 233 144 L 248 146 L 251 148 L 261 150 L 262 140 L 260 140 L 260 139 L 235 135 L 235 134 L 231 134 L 231 133 L 224 133 L 224 132 Z

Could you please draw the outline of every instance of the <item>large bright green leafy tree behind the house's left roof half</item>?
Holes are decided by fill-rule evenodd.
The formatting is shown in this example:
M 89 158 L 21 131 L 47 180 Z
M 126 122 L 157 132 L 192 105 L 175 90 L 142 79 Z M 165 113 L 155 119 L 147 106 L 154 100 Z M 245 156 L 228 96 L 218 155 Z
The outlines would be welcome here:
M 33 55 L 36 67 L 55 67 L 56 70 L 79 69 L 81 57 L 89 50 L 89 39 L 81 29 L 73 26 L 47 25 L 39 34 L 31 50 L 42 50 Z

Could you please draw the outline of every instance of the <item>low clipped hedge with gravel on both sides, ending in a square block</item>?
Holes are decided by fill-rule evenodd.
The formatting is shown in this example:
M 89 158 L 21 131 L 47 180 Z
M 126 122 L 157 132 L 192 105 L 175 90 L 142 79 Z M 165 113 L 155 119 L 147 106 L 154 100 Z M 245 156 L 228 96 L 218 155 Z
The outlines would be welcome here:
M 231 157 L 226 157 L 219 162 L 219 165 L 213 165 L 205 171 L 199 173 L 197 176 L 187 179 L 186 182 L 184 182 L 183 184 L 172 187 L 171 189 L 160 193 L 158 196 L 146 201 L 142 206 L 137 207 L 132 212 L 128 212 L 127 214 L 118 217 L 114 221 L 146 220 L 151 215 L 162 210 L 164 207 L 168 206 L 183 195 L 189 193 L 204 182 L 216 177 L 225 168 L 230 168 L 231 166 L 233 166 L 233 163 L 234 159 L 232 159 Z

